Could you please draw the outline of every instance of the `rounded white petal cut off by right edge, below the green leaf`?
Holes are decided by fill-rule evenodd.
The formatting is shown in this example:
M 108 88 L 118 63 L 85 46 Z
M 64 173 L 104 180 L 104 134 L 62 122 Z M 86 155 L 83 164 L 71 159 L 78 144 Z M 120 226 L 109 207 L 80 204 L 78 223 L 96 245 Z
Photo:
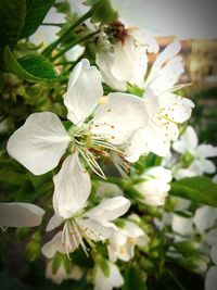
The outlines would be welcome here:
M 193 222 L 199 230 L 206 230 L 217 220 L 217 209 L 204 205 L 195 211 Z

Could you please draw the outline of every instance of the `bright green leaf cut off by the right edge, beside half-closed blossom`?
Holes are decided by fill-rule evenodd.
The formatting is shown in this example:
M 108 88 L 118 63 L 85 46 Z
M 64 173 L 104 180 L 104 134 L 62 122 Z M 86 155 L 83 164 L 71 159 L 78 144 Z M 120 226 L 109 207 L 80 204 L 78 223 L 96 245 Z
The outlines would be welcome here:
M 169 193 L 217 207 L 217 185 L 207 177 L 190 177 L 175 181 Z

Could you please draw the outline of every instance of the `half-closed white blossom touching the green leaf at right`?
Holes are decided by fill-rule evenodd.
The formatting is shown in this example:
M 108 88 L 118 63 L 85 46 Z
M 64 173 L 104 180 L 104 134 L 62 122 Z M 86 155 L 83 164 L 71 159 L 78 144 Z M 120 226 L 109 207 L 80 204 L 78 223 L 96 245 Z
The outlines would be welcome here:
M 170 189 L 170 171 L 156 166 L 145 171 L 141 177 L 144 181 L 135 185 L 135 188 L 142 194 L 141 202 L 153 206 L 164 205 Z

